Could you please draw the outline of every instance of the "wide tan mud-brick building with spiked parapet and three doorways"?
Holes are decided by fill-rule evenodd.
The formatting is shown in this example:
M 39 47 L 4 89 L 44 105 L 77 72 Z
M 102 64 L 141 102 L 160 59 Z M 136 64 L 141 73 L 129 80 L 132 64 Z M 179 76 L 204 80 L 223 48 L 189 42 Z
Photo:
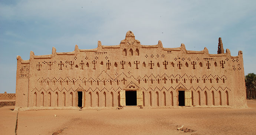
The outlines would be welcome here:
M 121 106 L 246 107 L 243 53 L 221 38 L 217 54 L 141 45 L 128 31 L 119 45 L 17 56 L 16 110 Z

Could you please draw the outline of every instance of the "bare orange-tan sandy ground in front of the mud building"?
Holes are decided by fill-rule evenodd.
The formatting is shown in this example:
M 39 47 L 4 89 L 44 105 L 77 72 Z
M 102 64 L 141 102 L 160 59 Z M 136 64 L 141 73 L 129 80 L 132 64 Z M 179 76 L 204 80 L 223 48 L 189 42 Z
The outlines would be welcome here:
M 256 101 L 249 108 L 177 108 L 20 111 L 18 135 L 60 134 L 256 134 Z M 0 134 L 15 132 L 14 106 L 0 108 Z M 57 115 L 55 117 L 54 115 Z M 184 128 L 194 132 L 177 131 Z

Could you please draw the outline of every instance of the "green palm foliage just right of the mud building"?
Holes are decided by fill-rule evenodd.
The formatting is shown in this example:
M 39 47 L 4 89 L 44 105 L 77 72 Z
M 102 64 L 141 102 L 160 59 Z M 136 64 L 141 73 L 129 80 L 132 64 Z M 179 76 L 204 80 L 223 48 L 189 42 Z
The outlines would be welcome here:
M 256 75 L 254 73 L 249 73 L 245 76 L 245 86 L 246 86 L 246 91 L 248 91 L 248 98 L 251 99 L 252 93 L 253 93 L 253 96 L 255 99 Z

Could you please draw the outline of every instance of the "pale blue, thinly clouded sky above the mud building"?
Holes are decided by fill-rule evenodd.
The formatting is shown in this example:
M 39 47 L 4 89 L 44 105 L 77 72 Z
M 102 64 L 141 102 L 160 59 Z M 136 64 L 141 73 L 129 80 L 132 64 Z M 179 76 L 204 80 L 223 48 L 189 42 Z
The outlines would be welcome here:
M 15 93 L 16 56 L 117 45 L 128 30 L 144 45 L 217 53 L 218 38 L 232 56 L 243 51 L 245 75 L 256 73 L 255 0 L 1 0 L 0 93 Z

